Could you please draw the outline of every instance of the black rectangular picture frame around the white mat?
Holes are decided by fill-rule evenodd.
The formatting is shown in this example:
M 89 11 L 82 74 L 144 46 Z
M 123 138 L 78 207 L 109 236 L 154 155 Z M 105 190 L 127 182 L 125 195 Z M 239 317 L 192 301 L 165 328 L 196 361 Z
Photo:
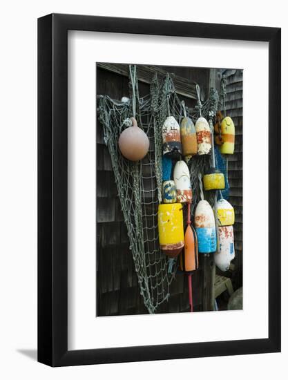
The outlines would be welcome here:
M 68 30 L 269 43 L 269 337 L 68 350 Z M 51 14 L 38 19 L 38 361 L 51 366 L 280 352 L 280 28 Z

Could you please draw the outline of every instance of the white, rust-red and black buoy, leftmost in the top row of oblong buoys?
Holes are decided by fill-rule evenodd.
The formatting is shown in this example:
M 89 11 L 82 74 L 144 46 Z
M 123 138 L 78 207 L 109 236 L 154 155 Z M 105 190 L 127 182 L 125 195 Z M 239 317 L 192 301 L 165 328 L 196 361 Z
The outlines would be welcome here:
M 182 154 L 180 126 L 175 117 L 166 117 L 162 126 L 163 155 L 179 157 Z

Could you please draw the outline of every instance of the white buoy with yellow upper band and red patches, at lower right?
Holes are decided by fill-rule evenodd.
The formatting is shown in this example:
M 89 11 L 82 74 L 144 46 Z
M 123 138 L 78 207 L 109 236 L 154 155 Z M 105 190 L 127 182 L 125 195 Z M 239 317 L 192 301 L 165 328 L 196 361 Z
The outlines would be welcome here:
M 220 198 L 214 207 L 216 224 L 218 225 L 218 247 L 215 264 L 222 272 L 229 269 L 231 260 L 235 258 L 233 224 L 234 209 L 227 200 Z

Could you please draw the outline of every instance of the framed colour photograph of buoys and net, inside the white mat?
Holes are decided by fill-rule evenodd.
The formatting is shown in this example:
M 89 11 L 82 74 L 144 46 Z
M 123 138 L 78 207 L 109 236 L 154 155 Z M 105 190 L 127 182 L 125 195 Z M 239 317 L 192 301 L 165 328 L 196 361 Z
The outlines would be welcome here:
M 242 310 L 242 68 L 96 70 L 96 316 Z

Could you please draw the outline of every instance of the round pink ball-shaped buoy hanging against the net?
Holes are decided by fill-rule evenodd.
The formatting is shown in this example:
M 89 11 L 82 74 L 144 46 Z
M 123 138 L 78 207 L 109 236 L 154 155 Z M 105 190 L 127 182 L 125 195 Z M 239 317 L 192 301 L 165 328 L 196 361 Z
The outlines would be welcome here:
M 119 149 L 127 160 L 139 161 L 145 157 L 149 149 L 149 139 L 137 126 L 135 117 L 131 117 L 132 126 L 124 129 L 119 137 Z

